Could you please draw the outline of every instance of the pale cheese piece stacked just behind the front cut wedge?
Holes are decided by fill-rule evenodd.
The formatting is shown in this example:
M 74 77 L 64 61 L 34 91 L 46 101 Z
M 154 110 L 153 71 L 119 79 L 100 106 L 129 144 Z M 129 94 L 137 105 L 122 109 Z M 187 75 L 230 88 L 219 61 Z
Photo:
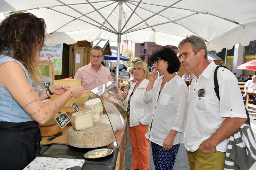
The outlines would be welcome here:
M 96 115 L 103 111 L 103 106 L 100 98 L 88 100 L 84 103 L 84 109 L 92 110 L 92 115 Z

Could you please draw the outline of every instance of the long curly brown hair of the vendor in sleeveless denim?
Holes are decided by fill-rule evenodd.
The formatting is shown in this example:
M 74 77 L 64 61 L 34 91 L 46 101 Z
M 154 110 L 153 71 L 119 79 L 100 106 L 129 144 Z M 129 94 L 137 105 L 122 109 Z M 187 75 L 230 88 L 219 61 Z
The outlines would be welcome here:
M 0 54 L 21 62 L 40 84 L 39 52 L 44 45 L 44 19 L 31 13 L 15 13 L 0 23 Z

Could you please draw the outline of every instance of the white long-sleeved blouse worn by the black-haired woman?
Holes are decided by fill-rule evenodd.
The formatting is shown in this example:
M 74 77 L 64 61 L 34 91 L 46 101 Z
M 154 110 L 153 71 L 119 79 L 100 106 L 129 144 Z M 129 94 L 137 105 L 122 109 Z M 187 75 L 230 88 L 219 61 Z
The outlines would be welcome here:
M 187 99 L 189 90 L 184 80 L 178 75 L 167 82 L 158 99 L 164 76 L 155 80 L 153 88 L 145 92 L 145 99 L 151 100 L 151 111 L 146 138 L 163 145 L 171 129 L 178 131 L 173 145 L 184 143 L 184 130 L 187 117 Z

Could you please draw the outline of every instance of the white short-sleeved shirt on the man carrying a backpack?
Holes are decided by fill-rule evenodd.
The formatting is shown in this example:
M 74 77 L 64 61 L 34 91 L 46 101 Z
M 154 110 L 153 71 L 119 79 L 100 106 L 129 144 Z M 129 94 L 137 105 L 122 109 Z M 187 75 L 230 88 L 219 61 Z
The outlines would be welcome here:
M 214 91 L 213 74 L 217 65 L 210 61 L 208 67 L 197 78 L 194 76 L 188 96 L 188 117 L 185 128 L 185 147 L 196 151 L 200 144 L 210 138 L 230 118 L 247 118 L 237 78 L 226 68 L 217 72 L 220 101 Z M 198 91 L 204 89 L 204 97 Z M 216 150 L 226 152 L 228 139 L 220 142 Z

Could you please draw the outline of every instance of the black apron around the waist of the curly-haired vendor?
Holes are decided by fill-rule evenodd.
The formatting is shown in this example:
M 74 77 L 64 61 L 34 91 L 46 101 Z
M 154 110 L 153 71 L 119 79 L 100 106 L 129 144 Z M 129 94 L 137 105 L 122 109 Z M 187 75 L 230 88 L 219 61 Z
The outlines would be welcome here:
M 0 122 L 0 169 L 22 170 L 40 153 L 36 121 Z

